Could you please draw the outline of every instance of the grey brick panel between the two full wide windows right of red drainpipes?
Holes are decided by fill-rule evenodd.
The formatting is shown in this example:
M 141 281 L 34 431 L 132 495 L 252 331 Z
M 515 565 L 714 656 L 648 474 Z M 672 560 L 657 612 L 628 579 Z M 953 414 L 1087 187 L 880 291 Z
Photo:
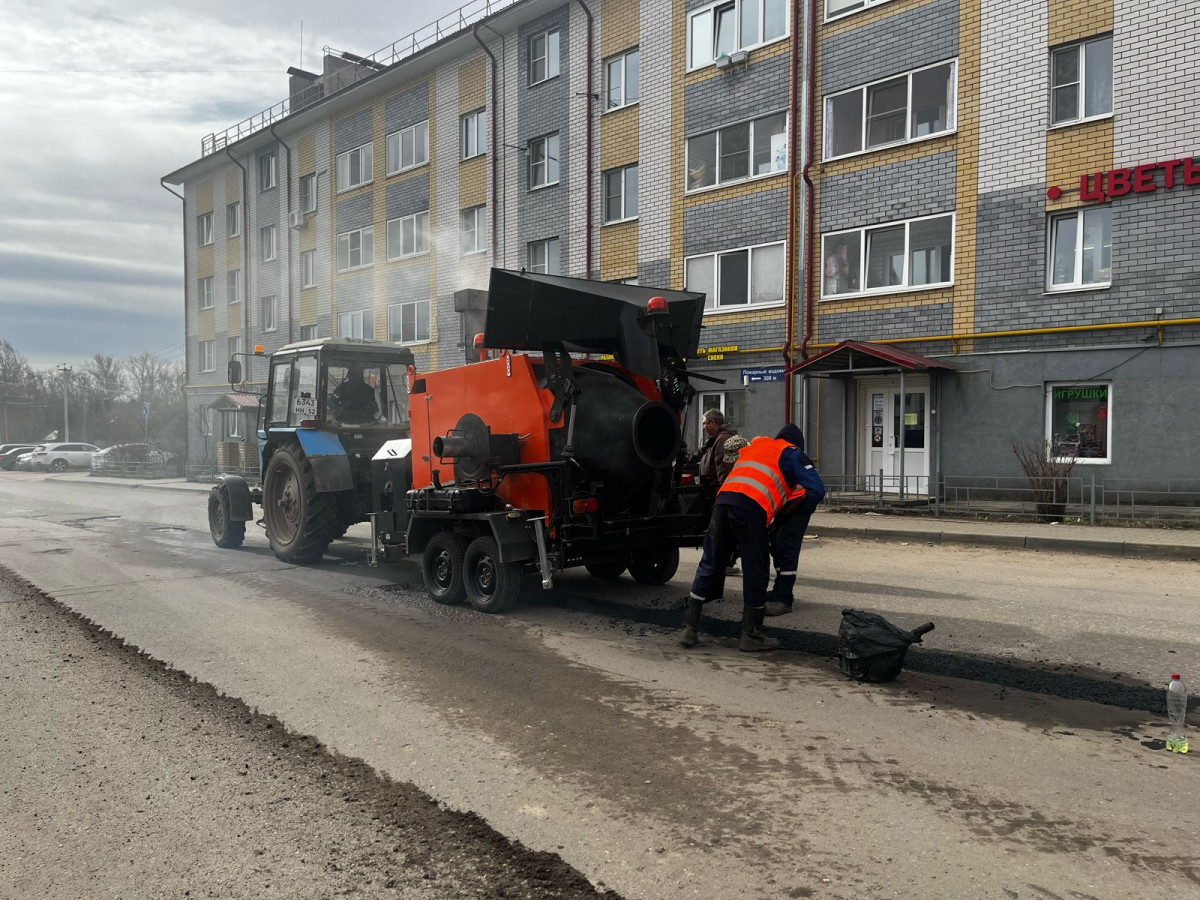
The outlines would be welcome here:
M 875 166 L 821 180 L 821 230 L 953 212 L 955 154 Z

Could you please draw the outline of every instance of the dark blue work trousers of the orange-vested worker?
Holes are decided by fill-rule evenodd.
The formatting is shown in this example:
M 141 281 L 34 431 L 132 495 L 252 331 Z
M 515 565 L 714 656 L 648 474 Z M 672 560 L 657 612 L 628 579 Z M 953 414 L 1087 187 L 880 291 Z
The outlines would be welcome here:
M 770 581 L 770 553 L 767 538 L 767 514 L 740 506 L 716 504 L 704 533 L 704 553 L 691 582 L 691 594 L 701 600 L 719 600 L 725 595 L 725 568 L 734 551 L 742 556 L 742 595 L 746 606 L 767 604 Z

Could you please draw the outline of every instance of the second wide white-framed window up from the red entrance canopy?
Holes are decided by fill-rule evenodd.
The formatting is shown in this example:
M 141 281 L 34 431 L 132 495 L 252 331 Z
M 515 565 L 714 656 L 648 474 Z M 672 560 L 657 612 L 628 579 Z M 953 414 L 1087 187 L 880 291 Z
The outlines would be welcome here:
M 954 131 L 956 80 L 952 60 L 826 97 L 824 158 Z

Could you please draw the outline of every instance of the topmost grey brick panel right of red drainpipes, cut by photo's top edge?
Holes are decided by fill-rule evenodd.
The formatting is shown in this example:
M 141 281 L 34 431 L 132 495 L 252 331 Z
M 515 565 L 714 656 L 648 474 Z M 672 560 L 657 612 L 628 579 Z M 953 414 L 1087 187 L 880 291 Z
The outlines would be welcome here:
M 821 53 L 822 95 L 950 59 L 959 53 L 959 2 L 934 0 L 835 35 Z

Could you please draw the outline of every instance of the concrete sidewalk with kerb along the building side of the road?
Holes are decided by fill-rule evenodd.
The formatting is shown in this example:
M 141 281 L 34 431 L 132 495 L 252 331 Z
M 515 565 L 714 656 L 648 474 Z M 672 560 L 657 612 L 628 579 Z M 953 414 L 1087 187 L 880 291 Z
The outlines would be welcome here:
M 44 475 L 46 480 L 116 485 L 143 491 L 208 493 L 211 484 L 185 479 L 100 478 L 86 473 Z M 880 512 L 818 510 L 809 534 L 823 538 L 967 544 L 976 546 L 1055 550 L 1114 557 L 1200 559 L 1200 529 L 1115 528 L 1111 526 L 1048 524 L 992 520 L 953 520 L 929 516 L 892 516 Z

